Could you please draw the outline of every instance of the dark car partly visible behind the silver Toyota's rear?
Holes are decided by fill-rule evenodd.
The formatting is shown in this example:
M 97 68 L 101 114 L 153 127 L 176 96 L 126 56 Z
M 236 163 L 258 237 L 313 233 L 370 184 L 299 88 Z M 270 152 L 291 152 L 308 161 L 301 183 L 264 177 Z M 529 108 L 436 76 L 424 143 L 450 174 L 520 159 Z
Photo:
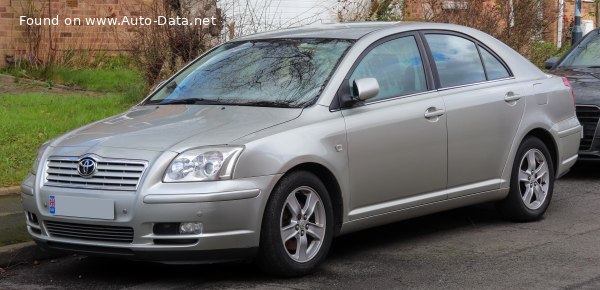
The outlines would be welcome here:
M 562 58 L 546 61 L 550 73 L 567 77 L 583 125 L 579 160 L 600 161 L 600 28 L 592 30 Z

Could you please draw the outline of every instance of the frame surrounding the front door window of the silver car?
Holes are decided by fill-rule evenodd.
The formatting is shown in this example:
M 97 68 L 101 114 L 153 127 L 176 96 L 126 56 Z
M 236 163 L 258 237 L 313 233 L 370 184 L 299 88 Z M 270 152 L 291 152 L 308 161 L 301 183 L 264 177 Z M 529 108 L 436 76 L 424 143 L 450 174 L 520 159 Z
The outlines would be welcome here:
M 359 106 L 367 106 L 367 105 L 370 105 L 370 104 L 378 104 L 378 103 L 381 103 L 381 102 L 387 102 L 387 101 L 393 101 L 393 100 L 403 99 L 403 98 L 407 98 L 407 97 L 411 97 L 411 96 L 416 96 L 416 95 L 422 95 L 424 93 L 430 93 L 432 91 L 435 91 L 436 90 L 436 86 L 435 86 L 435 83 L 434 83 L 434 77 L 433 77 L 433 71 L 431 69 L 430 58 L 426 54 L 425 46 L 424 46 L 423 40 L 421 39 L 421 37 L 419 35 L 419 31 L 405 31 L 405 32 L 396 33 L 396 34 L 392 34 L 392 35 L 388 35 L 388 36 L 382 37 L 382 38 L 374 41 L 373 43 L 369 44 L 369 46 L 365 50 L 363 50 L 363 52 L 361 52 L 361 54 L 356 58 L 356 60 L 352 64 L 352 67 L 350 67 L 350 69 L 346 73 L 346 76 L 342 80 L 342 83 L 340 84 L 340 87 L 336 91 L 335 96 L 334 96 L 333 100 L 331 101 L 331 104 L 329 105 L 329 111 L 334 112 L 334 111 L 338 111 L 338 110 L 344 110 L 344 109 L 354 108 L 355 106 L 342 107 L 340 98 L 341 98 L 342 95 L 346 95 L 346 94 L 350 93 L 347 84 L 348 84 L 348 81 L 350 81 L 350 77 L 352 76 L 352 74 L 356 70 L 356 67 L 361 63 L 361 61 L 365 58 L 365 56 L 367 54 L 369 54 L 369 52 L 371 52 L 371 50 L 375 49 L 379 45 L 381 45 L 381 44 L 383 44 L 385 42 L 388 42 L 388 41 L 392 41 L 392 40 L 399 39 L 399 38 L 402 38 L 402 37 L 407 37 L 407 36 L 414 37 L 415 42 L 417 44 L 417 49 L 419 51 L 419 55 L 421 57 L 421 62 L 423 64 L 423 69 L 424 69 L 424 72 L 425 72 L 425 82 L 426 82 L 426 85 L 427 85 L 426 90 L 423 91 L 423 92 L 418 92 L 418 93 L 412 93 L 412 94 L 407 94 L 407 95 L 399 95 L 399 96 L 395 96 L 395 97 L 389 97 L 389 98 L 382 99 L 382 100 L 375 100 L 375 101 L 371 101 L 371 102 L 360 102 Z

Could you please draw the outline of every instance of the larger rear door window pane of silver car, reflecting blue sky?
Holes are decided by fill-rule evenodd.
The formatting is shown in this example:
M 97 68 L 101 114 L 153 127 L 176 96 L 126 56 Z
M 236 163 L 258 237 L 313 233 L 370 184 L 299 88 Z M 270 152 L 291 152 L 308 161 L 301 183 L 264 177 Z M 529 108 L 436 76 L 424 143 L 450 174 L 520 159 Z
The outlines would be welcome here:
M 442 87 L 485 81 L 485 73 L 475 43 L 455 35 L 427 34 Z

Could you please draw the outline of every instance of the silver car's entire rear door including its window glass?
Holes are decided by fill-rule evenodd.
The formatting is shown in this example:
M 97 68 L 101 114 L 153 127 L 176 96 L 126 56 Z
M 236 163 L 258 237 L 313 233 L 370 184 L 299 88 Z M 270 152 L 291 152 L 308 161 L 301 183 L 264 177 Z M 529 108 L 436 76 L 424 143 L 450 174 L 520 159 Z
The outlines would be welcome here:
M 497 189 L 530 84 L 474 39 L 425 32 L 448 126 L 448 197 Z

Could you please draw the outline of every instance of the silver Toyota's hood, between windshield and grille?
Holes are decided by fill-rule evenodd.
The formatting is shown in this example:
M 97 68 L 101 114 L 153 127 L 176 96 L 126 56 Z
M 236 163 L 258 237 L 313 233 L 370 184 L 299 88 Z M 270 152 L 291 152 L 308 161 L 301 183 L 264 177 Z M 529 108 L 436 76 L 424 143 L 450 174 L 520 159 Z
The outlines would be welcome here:
M 165 151 L 192 137 L 197 137 L 194 147 L 221 145 L 290 121 L 301 112 L 302 109 L 252 106 L 138 106 L 76 129 L 52 146 Z

